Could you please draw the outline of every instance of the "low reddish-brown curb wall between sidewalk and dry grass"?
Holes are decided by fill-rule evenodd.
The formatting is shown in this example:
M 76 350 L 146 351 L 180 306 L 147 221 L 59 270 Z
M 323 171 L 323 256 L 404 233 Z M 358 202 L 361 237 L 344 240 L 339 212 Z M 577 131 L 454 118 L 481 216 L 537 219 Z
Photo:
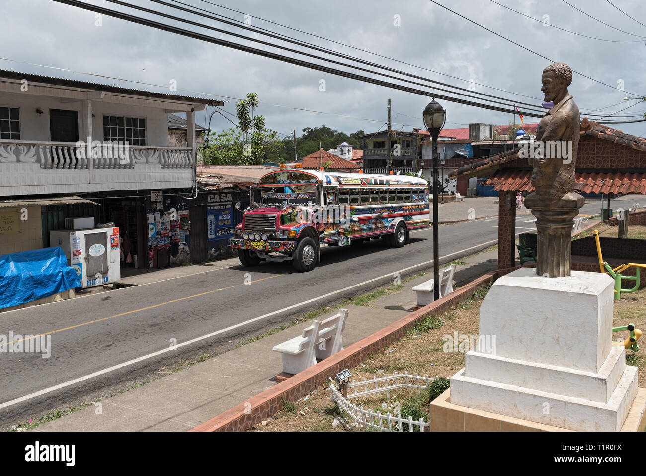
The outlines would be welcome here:
M 295 402 L 298 398 L 311 392 L 317 385 L 326 382 L 328 377 L 339 373 L 343 369 L 356 367 L 371 354 L 379 352 L 384 347 L 402 338 L 406 331 L 418 321 L 433 314 L 443 314 L 463 302 L 468 296 L 471 296 L 477 288 L 495 281 L 498 277 L 516 268 L 519 268 L 519 266 L 483 274 L 483 276 L 455 290 L 449 296 L 412 312 L 408 316 L 404 316 L 371 336 L 346 347 L 346 349 L 337 352 L 337 354 L 326 360 L 318 362 L 316 365 L 309 367 L 309 369 L 288 378 L 259 395 L 249 398 L 247 402 L 237 405 L 189 431 L 245 431 L 254 427 L 260 424 L 262 420 L 266 420 L 280 411 L 284 402 Z

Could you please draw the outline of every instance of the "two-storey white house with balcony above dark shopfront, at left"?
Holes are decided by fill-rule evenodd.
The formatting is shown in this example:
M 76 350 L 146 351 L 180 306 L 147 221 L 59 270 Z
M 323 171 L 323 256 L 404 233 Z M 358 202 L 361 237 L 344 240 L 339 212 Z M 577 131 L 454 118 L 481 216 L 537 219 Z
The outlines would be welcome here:
M 206 199 L 183 198 L 198 197 L 195 113 L 207 105 L 224 103 L 0 70 L 0 254 L 94 217 L 120 228 L 138 268 L 207 259 Z M 186 144 L 169 144 L 174 113 Z

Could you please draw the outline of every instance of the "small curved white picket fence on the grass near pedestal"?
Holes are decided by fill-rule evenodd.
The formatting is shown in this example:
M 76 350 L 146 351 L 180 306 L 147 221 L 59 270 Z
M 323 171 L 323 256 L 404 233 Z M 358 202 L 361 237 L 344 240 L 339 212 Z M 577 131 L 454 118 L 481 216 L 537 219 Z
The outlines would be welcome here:
M 411 416 L 402 418 L 401 414 L 394 416 L 390 412 L 382 415 L 381 411 L 374 413 L 370 409 L 364 409 L 363 406 L 352 404 L 349 400 L 382 392 L 386 392 L 386 398 L 390 398 L 391 391 L 401 388 L 417 389 L 417 395 L 421 396 L 421 390 L 430 389 L 430 384 L 433 380 L 435 379 L 430 378 L 428 375 L 422 377 L 417 373 L 415 375 L 410 375 L 408 372 L 394 375 L 384 373 L 382 377 L 375 375 L 375 378 L 370 380 L 364 378 L 363 382 L 348 384 L 347 399 L 337 390 L 334 384 L 330 384 L 329 387 L 332 393 L 332 402 L 337 404 L 340 409 L 348 413 L 357 424 L 362 425 L 364 428 L 370 427 L 379 431 L 404 431 L 404 425 L 408 425 L 408 431 L 414 431 L 414 426 L 419 426 L 420 431 L 430 431 L 430 425 L 428 422 L 424 422 L 424 418 L 417 421 L 413 420 Z M 380 387 L 379 385 L 382 383 L 383 386 Z

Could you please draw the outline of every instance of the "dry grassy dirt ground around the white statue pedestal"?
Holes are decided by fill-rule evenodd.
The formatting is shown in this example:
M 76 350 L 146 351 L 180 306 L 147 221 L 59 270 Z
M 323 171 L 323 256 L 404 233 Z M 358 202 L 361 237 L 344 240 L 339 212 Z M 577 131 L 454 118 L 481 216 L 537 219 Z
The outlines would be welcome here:
M 400 341 L 383 349 L 379 354 L 370 356 L 358 367 L 350 369 L 353 382 L 361 382 L 364 378 L 370 379 L 384 373 L 390 375 L 405 371 L 409 374 L 417 372 L 422 376 L 428 374 L 430 377 L 450 378 L 464 367 L 464 352 L 444 352 L 443 345 L 448 341 L 446 336 L 453 337 L 454 332 L 467 336 L 479 333 L 479 307 L 486 291 L 480 290 L 463 305 L 452 308 L 442 316 L 427 318 Z M 624 294 L 620 301 L 615 301 L 613 325 L 618 327 L 629 323 L 634 323 L 637 329 L 646 331 L 646 289 Z M 613 338 L 623 340 L 627 336 L 627 331 L 617 332 Z M 640 368 L 639 386 L 646 387 L 646 338 L 641 338 L 638 343 L 641 344 L 640 351 L 626 352 L 627 363 Z M 295 404 L 287 403 L 282 411 L 249 431 L 364 431 L 358 427 L 344 426 L 353 420 L 342 414 L 331 402 L 329 383 L 319 385 Z M 422 392 L 421 396 L 418 396 L 416 391 L 401 390 L 392 391 L 390 398 L 380 394 L 353 400 L 353 403 L 370 407 L 373 411 L 380 409 L 382 413 L 390 411 L 393 414 L 393 409 L 398 404 L 400 407 L 415 404 L 415 411 L 422 411 L 420 415 L 415 415 L 417 419 L 422 416 L 424 421 L 428 421 L 426 401 L 428 393 Z M 340 418 L 344 424 L 333 428 L 335 418 Z

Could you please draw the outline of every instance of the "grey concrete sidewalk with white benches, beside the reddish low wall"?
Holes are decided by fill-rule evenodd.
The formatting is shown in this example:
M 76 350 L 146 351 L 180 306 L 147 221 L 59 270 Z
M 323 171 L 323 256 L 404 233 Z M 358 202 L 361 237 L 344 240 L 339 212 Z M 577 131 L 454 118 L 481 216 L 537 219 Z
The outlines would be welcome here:
M 455 281 L 461 285 L 497 268 L 497 250 L 461 259 Z M 380 297 L 369 307 L 349 306 L 344 344 L 351 345 L 410 313 L 417 304 L 413 286 L 432 279 L 426 274 L 404 283 L 400 292 Z M 336 310 L 318 319 L 336 314 Z M 163 376 L 125 393 L 34 428 L 34 431 L 185 431 L 244 404 L 275 385 L 282 358 L 274 345 L 298 336 L 310 323 L 300 323 L 272 336 L 238 347 Z

